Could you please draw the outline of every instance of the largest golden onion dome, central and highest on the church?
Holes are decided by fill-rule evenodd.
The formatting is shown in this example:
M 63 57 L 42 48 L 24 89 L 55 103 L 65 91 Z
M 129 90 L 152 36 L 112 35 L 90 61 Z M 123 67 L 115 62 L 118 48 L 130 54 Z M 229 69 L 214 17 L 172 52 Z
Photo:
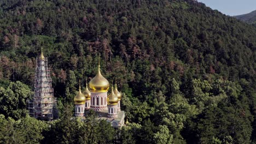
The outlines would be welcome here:
M 89 88 L 91 92 L 108 92 L 109 82 L 101 75 L 100 64 L 98 65 L 97 75 L 89 82 Z

